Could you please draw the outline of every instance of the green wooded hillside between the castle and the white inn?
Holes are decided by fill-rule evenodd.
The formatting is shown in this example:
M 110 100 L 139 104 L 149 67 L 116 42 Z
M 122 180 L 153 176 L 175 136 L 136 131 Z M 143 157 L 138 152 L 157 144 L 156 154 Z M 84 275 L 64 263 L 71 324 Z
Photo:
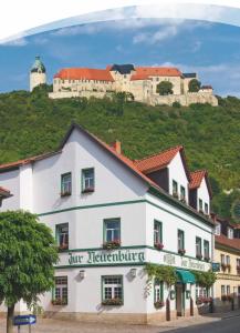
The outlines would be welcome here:
M 118 139 L 132 159 L 184 144 L 190 170 L 209 171 L 213 210 L 230 216 L 232 202 L 240 198 L 239 99 L 219 98 L 217 108 L 149 107 L 125 101 L 123 94 L 112 101 L 50 100 L 46 90 L 0 94 L 0 163 L 54 150 L 72 121 L 108 143 Z

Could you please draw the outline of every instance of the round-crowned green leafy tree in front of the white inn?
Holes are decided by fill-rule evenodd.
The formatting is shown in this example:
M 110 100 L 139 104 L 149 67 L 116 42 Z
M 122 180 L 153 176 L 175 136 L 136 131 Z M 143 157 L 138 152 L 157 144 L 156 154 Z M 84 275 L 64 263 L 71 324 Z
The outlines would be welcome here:
M 8 307 L 7 333 L 13 332 L 14 306 L 28 306 L 54 285 L 58 250 L 51 230 L 24 211 L 0 213 L 0 303 Z

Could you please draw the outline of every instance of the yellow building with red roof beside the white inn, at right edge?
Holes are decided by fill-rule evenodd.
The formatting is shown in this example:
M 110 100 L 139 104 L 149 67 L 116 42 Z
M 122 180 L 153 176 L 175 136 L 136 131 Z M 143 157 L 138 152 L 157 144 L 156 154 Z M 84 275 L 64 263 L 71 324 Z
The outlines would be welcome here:
M 234 232 L 238 225 L 220 218 L 216 223 L 215 261 L 219 263 L 216 307 L 229 311 L 240 307 L 240 239 Z

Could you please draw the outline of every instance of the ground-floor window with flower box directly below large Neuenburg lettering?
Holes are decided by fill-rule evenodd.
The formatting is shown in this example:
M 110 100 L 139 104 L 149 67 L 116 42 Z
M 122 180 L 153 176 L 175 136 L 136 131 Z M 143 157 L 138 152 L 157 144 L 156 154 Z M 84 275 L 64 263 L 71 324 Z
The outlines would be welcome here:
M 123 276 L 102 276 L 103 304 L 123 304 Z

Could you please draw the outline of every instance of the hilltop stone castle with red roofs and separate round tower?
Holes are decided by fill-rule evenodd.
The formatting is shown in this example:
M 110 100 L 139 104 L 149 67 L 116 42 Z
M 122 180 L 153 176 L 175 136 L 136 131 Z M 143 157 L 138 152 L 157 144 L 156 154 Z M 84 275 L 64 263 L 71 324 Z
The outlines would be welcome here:
M 45 83 L 45 67 L 39 58 L 30 73 L 30 90 Z M 53 78 L 51 99 L 62 98 L 104 98 L 113 92 L 127 92 L 138 102 L 150 105 L 178 102 L 181 105 L 191 103 L 210 103 L 218 105 L 211 85 L 199 85 L 190 89 L 192 81 L 198 82 L 197 73 L 182 73 L 171 67 L 135 67 L 134 64 L 113 64 L 105 69 L 65 68 Z M 168 90 L 160 90 L 160 87 Z

